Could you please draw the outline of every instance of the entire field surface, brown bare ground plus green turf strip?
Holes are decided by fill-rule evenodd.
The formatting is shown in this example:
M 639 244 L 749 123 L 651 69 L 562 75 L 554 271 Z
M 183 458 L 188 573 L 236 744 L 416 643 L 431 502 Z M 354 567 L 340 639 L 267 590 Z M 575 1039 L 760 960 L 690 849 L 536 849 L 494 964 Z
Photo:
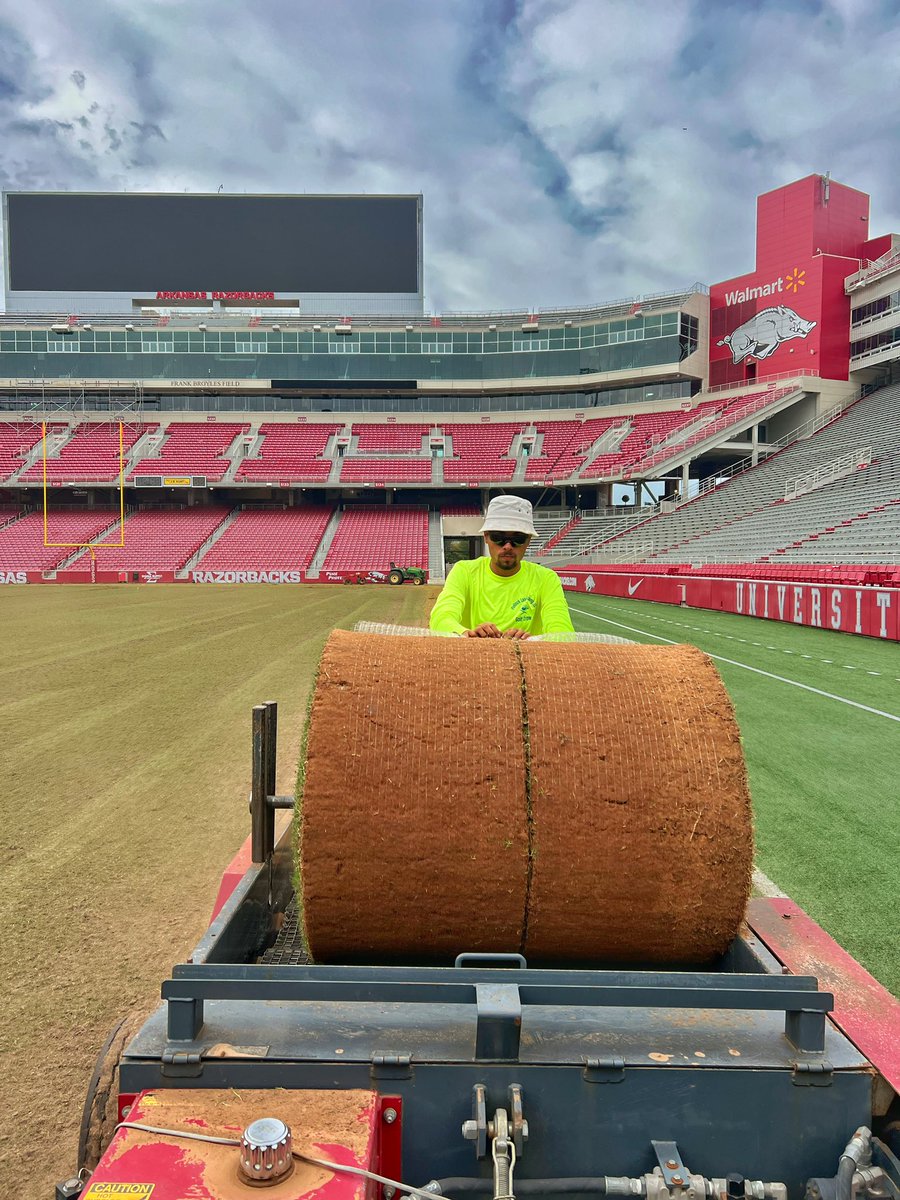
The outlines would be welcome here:
M 19 1147 L 14 1175 L 0 1154 L 0 1188 L 24 1172 L 46 1194 L 66 1176 L 97 1048 L 115 1020 L 156 1002 L 206 928 L 250 830 L 251 707 L 278 701 L 277 788 L 290 792 L 329 630 L 424 624 L 434 594 L 0 587 L 0 1109 Z M 577 628 L 690 641 L 732 660 L 718 665 L 744 736 L 760 866 L 900 994 L 900 647 L 641 601 L 570 601 Z M 49 1151 L 30 1136 L 47 1079 Z

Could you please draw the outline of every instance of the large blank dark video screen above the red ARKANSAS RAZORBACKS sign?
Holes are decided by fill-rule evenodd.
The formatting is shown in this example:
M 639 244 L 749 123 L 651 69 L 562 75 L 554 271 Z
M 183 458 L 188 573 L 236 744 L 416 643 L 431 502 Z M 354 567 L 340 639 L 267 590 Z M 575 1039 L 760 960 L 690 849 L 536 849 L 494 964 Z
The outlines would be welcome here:
M 418 293 L 418 196 L 10 192 L 11 292 Z

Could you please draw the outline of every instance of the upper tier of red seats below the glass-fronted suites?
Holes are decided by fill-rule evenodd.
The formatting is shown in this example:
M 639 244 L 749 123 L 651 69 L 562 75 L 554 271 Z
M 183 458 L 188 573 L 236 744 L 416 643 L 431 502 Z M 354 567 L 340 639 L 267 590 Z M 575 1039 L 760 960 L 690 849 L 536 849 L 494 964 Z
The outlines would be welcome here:
M 660 467 L 713 434 L 726 434 L 730 425 L 785 395 L 768 389 L 695 400 L 689 409 L 536 422 L 298 421 L 266 422 L 253 433 L 247 424 L 218 421 L 172 421 L 161 433 L 157 425 L 131 424 L 125 426 L 124 451 L 128 479 L 202 475 L 210 482 L 274 486 L 622 479 Z M 47 469 L 52 481 L 116 479 L 118 425 L 54 425 L 50 430 Z M 443 480 L 433 473 L 427 442 L 432 432 L 446 439 Z M 340 446 L 334 440 L 337 434 Z M 41 481 L 41 455 L 34 452 L 40 438 L 40 426 L 32 422 L 0 425 L 0 479 Z

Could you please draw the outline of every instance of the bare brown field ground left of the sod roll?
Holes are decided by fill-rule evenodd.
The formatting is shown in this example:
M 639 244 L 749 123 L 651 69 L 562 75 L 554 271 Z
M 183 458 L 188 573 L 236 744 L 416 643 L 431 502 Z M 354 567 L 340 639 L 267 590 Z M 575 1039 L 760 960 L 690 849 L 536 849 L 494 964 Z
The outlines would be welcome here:
M 433 588 L 0 588 L 0 1190 L 53 1195 L 113 1024 L 155 1007 L 250 832 L 250 713 L 293 792 L 328 632 Z M 50 1133 L 35 1132 L 49 1128 Z

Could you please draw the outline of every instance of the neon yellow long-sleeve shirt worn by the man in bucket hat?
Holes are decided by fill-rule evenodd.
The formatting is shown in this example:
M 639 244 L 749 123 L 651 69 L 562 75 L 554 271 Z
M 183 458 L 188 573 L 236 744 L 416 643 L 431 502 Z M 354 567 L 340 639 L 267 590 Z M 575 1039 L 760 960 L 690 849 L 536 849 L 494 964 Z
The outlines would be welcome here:
M 431 628 L 440 634 L 462 634 L 485 622 L 502 632 L 574 632 L 559 576 L 548 566 L 524 559 L 518 571 L 506 578 L 494 575 L 487 556 L 451 568 L 431 611 Z

